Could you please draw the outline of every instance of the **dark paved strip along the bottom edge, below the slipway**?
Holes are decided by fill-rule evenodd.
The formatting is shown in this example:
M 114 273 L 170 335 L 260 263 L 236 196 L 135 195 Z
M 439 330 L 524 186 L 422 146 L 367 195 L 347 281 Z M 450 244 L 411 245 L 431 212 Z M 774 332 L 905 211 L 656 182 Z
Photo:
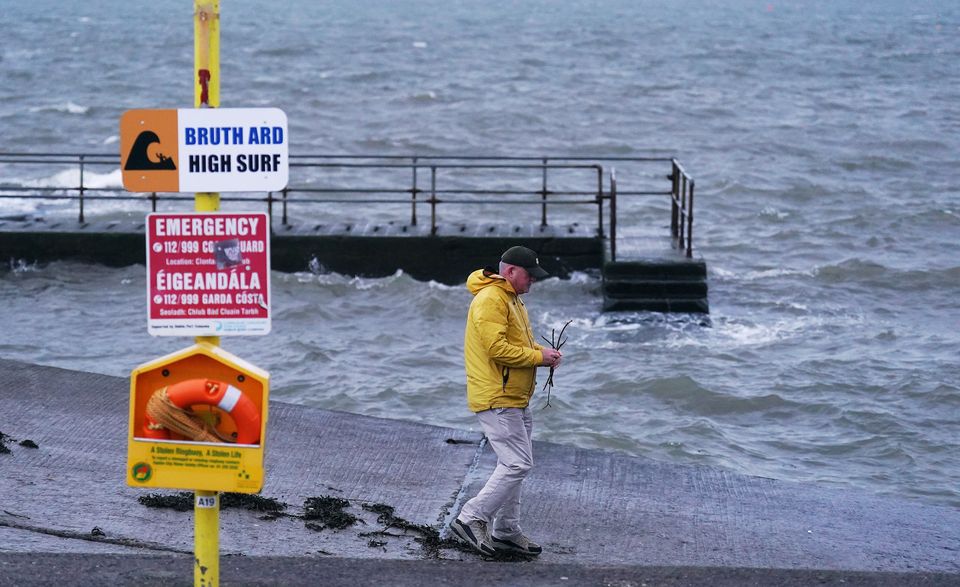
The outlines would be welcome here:
M 0 553 L 0 583 L 45 585 L 193 585 L 188 556 L 85 556 Z M 229 557 L 220 583 L 231 586 L 390 585 L 422 587 L 952 587 L 956 575 L 731 567 L 643 567 L 556 563 L 409 561 L 395 559 Z

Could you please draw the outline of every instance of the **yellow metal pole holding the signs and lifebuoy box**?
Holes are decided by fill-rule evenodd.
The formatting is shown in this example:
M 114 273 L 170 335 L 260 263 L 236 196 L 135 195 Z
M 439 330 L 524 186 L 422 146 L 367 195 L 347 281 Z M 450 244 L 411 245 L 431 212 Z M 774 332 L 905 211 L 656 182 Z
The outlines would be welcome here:
M 193 2 L 194 108 L 220 106 L 220 0 Z M 194 195 L 194 210 L 216 212 L 220 194 Z M 219 336 L 198 336 L 196 341 L 220 346 Z M 220 585 L 220 497 L 215 491 L 196 491 L 193 507 L 194 587 Z

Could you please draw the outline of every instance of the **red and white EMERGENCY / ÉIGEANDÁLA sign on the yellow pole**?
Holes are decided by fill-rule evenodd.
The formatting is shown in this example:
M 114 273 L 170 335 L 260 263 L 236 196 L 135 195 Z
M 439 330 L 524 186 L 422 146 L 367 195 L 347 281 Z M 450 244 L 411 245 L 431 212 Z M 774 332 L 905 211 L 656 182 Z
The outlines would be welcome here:
M 267 215 L 148 214 L 147 278 L 147 329 L 154 336 L 267 334 Z

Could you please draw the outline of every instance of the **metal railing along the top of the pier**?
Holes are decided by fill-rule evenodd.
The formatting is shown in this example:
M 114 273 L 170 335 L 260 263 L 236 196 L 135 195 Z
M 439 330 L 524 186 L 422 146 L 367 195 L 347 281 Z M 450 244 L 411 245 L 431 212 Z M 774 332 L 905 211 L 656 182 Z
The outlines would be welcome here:
M 671 201 L 670 230 L 673 245 L 688 257 L 693 250 L 693 180 L 676 159 L 665 157 L 448 157 L 403 155 L 291 155 L 290 182 L 280 192 L 221 194 L 224 202 L 261 202 L 271 218 L 279 206 L 280 222 L 291 225 L 291 218 L 308 222 L 318 215 L 326 215 L 331 206 L 344 207 L 355 221 L 358 215 L 369 215 L 372 210 L 390 209 L 396 205 L 409 206 L 403 220 L 411 226 L 422 221 L 423 207 L 429 210 L 429 233 L 436 235 L 440 226 L 440 210 L 468 206 L 497 206 L 494 211 L 482 208 L 487 214 L 502 215 L 504 206 L 512 210 L 511 222 L 539 224 L 551 222 L 585 221 L 592 209 L 596 222 L 595 234 L 609 242 L 611 258 L 616 260 L 618 230 L 618 200 L 620 210 L 637 196 L 669 197 Z M 637 171 L 631 179 L 662 181 L 654 166 L 670 165 L 667 179 L 670 189 L 623 190 L 618 188 L 613 164 L 622 169 Z M 11 173 L 17 166 L 45 166 L 46 179 L 10 180 L 20 174 Z M 609 190 L 604 191 L 605 165 L 609 166 Z M 54 182 L 57 173 L 71 169 L 79 172 Z M 116 154 L 76 153 L 0 153 L 0 214 L 2 200 L 10 198 L 43 201 L 76 202 L 78 218 L 86 221 L 86 208 L 97 201 L 150 202 L 151 211 L 157 211 L 160 202 L 192 201 L 192 194 L 148 193 L 136 194 L 124 190 L 119 178 L 112 182 L 91 182 L 87 177 L 92 168 L 108 169 L 118 173 Z M 343 176 L 343 177 L 341 177 Z M 406 176 L 406 180 L 403 180 Z M 492 176 L 492 177 L 491 177 Z M 22 177 L 22 176 L 21 176 Z M 336 183 L 340 180 L 340 183 Z M 47 185 L 44 185 L 46 182 Z M 49 185 L 59 183 L 59 185 Z M 97 183 L 98 185 L 94 185 Z M 109 184 L 109 185 L 108 185 Z M 535 184 L 535 185 L 534 185 Z M 493 187 L 491 187 L 493 186 Z M 605 205 L 606 203 L 606 205 Z M 318 208 L 322 206 L 322 208 Z M 372 208 L 375 207 L 375 208 Z M 359 210 L 359 214 L 357 211 Z M 536 210 L 532 215 L 528 210 Z M 457 212 L 444 212 L 447 221 L 464 218 Z M 391 215 L 395 215 L 391 213 Z M 468 218 L 475 215 L 467 213 Z M 589 225 L 589 224 L 586 224 Z

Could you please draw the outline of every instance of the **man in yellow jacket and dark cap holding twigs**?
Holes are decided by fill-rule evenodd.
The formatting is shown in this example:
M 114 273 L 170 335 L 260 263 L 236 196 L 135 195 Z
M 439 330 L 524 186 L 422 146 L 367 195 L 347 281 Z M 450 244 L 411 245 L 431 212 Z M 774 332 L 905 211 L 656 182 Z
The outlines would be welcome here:
M 533 467 L 529 404 L 536 370 L 559 367 L 561 354 L 537 344 L 520 296 L 547 276 L 534 251 L 511 247 L 500 258 L 497 273 L 479 269 L 467 278 L 474 295 L 463 337 L 467 405 L 497 455 L 497 468 L 450 529 L 486 555 L 543 551 L 520 529 L 520 489 Z

